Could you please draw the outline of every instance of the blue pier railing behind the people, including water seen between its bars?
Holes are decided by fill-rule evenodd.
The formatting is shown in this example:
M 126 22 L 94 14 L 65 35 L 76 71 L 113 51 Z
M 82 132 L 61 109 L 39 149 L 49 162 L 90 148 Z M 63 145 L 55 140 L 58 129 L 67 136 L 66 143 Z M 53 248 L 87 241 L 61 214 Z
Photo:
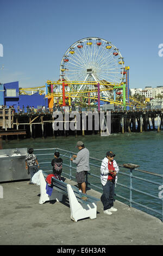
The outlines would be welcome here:
M 72 151 L 51 148 L 35 149 L 39 160 L 40 169 L 52 172 L 51 161 L 54 152 L 59 151 L 63 159 L 62 175 L 75 180 L 76 165 L 70 161 Z M 90 172 L 87 172 L 86 184 L 93 189 L 103 192 L 100 180 L 101 161 L 90 157 Z M 116 185 L 116 197 L 130 207 L 135 207 L 150 215 L 158 217 L 163 222 L 163 174 L 152 173 L 132 164 L 118 164 L 118 182 Z

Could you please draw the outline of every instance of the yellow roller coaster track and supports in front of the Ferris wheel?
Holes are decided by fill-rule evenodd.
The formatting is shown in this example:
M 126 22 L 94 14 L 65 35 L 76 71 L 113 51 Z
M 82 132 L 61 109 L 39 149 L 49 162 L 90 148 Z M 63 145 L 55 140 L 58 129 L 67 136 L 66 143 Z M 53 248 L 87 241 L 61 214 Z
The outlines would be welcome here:
M 88 88 L 86 90 L 78 90 L 80 85 L 87 85 Z M 90 89 L 89 86 L 93 86 L 94 89 Z M 125 105 L 133 107 L 135 104 L 137 107 L 145 107 L 146 105 L 134 99 L 134 97 L 130 97 L 130 101 L 126 102 L 126 95 L 122 96 L 117 95 L 117 99 L 114 100 L 113 97 L 110 97 L 111 94 L 108 92 L 113 92 L 113 90 L 121 90 L 122 87 L 125 86 L 125 82 L 121 84 L 111 84 L 106 81 L 100 82 L 100 100 L 104 102 L 113 103 L 115 105 Z M 68 99 L 68 104 L 71 105 L 71 99 L 82 98 L 83 99 L 92 99 L 98 100 L 97 97 L 97 82 L 96 81 L 64 81 L 64 96 Z M 106 92 L 107 94 L 103 94 Z M 124 93 L 124 90 L 123 90 Z M 125 93 L 124 93 L 125 94 Z M 53 103 L 55 99 L 60 99 L 60 103 L 63 102 L 63 81 L 50 81 L 48 80 L 46 83 L 46 97 L 49 99 L 49 107 L 53 107 Z M 124 99 L 125 97 L 125 99 Z M 124 103 L 125 101 L 125 103 Z

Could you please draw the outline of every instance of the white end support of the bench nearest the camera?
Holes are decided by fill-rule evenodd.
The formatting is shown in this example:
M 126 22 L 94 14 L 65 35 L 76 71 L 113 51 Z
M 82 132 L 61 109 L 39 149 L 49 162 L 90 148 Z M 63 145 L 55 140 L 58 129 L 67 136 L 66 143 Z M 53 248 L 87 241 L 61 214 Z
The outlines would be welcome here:
M 70 184 L 67 184 L 68 198 L 70 202 L 71 219 L 75 222 L 82 218 L 96 218 L 97 206 L 95 203 L 80 204 L 72 190 Z

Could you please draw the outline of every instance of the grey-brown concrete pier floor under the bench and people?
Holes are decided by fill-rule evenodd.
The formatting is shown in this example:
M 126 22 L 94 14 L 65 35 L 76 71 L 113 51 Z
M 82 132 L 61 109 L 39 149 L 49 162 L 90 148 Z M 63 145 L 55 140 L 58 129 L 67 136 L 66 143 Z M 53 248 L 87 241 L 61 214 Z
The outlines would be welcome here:
M 76 184 L 68 179 L 65 182 Z M 116 200 L 117 212 L 73 222 L 68 199 L 39 204 L 40 187 L 29 181 L 0 184 L 0 245 L 163 245 L 163 223 Z M 101 197 L 95 190 L 87 194 Z

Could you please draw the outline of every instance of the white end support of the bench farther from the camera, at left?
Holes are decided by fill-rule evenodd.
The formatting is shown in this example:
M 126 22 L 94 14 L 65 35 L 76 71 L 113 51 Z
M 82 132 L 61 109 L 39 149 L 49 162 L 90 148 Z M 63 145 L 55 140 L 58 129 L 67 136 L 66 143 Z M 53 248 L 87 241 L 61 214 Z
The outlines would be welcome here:
M 39 201 L 39 204 L 43 204 L 46 201 L 50 201 L 50 200 L 57 200 L 57 202 L 60 202 L 60 201 L 62 201 L 62 197 L 63 197 L 63 195 L 61 193 L 59 193 L 58 191 L 55 191 L 55 187 L 53 188 L 51 197 L 49 197 L 49 195 L 46 193 L 45 178 L 44 178 L 42 172 L 40 172 L 40 201 Z

